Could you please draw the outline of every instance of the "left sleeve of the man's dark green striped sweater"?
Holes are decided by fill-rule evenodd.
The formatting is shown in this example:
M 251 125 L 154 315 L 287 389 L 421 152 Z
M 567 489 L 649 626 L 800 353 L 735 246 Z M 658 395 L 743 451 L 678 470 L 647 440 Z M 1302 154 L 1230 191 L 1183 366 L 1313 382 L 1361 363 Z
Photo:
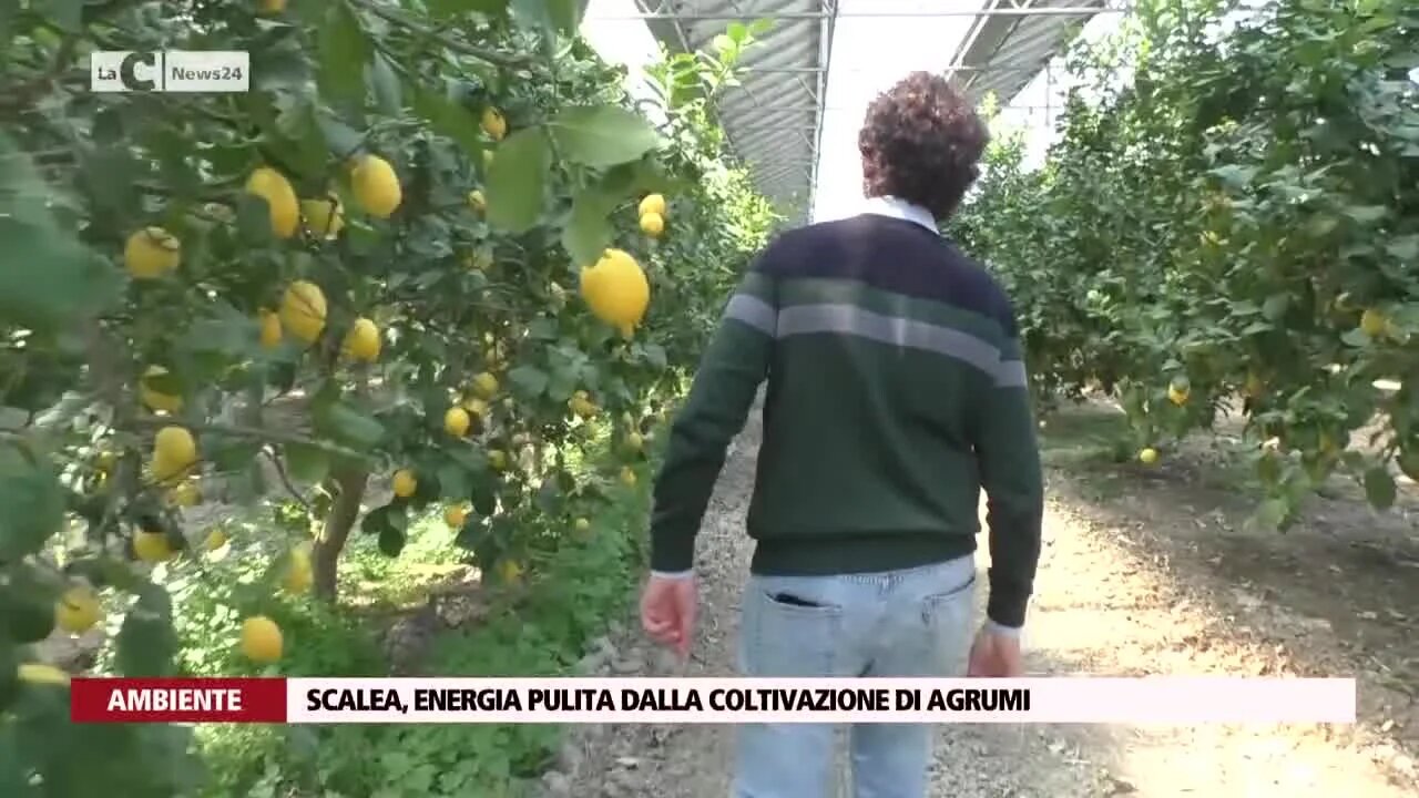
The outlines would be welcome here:
M 694 565 L 695 535 L 725 452 L 768 375 L 778 308 L 773 280 L 762 268 L 765 257 L 729 300 L 670 429 L 650 518 L 651 571 L 685 572 Z

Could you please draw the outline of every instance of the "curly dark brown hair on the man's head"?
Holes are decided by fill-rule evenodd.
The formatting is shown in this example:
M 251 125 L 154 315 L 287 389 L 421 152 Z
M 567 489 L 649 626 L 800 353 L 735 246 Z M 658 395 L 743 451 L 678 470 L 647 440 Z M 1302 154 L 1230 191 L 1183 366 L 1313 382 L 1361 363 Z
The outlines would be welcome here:
M 975 108 L 946 78 L 912 72 L 867 106 L 857 135 L 863 190 L 951 216 L 981 176 L 976 163 L 990 141 Z

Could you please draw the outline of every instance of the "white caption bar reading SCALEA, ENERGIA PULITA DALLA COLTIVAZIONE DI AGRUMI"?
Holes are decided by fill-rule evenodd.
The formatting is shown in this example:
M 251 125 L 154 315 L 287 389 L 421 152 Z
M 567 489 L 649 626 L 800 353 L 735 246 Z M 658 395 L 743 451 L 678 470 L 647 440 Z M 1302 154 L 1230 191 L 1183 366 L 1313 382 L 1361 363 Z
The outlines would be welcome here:
M 1354 723 L 1354 679 L 289 679 L 288 723 Z

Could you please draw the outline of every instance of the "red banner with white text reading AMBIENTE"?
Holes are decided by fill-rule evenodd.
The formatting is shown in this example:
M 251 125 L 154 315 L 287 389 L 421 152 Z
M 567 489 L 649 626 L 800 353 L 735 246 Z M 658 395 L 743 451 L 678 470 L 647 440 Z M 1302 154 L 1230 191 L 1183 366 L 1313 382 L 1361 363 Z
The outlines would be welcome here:
M 285 679 L 74 679 L 74 723 L 285 723 Z

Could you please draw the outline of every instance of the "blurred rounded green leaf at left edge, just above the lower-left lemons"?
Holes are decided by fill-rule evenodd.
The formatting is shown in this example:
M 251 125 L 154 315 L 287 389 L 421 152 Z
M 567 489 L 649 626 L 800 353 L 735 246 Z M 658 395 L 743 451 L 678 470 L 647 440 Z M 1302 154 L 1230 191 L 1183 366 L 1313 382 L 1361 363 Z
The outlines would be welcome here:
M 35 554 L 64 525 L 64 486 L 47 460 L 0 443 L 0 561 Z

